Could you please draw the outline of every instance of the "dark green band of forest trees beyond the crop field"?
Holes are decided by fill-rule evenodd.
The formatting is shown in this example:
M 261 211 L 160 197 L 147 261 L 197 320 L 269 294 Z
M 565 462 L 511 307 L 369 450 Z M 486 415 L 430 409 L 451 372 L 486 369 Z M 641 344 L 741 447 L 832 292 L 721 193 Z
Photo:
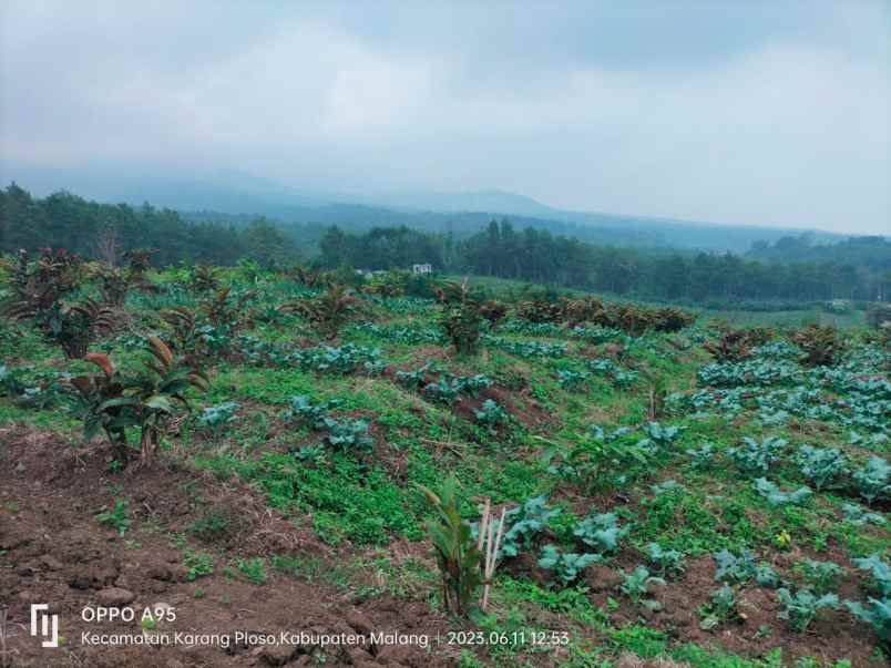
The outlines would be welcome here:
M 447 274 L 690 304 L 881 301 L 891 294 L 891 241 L 875 236 L 832 245 L 813 244 L 808 235 L 784 237 L 772 245 L 756 243 L 739 256 L 597 246 L 533 227 L 516 229 L 506 219 L 470 236 L 404 226 L 321 232 L 265 218 L 243 225 L 190 223 L 175 210 L 148 204 L 99 204 L 69 193 L 38 198 L 14 184 L 0 191 L 0 250 L 53 245 L 96 257 L 109 243 L 120 250 L 155 249 L 154 261 L 162 266 L 232 266 L 250 258 L 265 268 L 308 261 L 317 268 L 381 270 L 430 263 Z

